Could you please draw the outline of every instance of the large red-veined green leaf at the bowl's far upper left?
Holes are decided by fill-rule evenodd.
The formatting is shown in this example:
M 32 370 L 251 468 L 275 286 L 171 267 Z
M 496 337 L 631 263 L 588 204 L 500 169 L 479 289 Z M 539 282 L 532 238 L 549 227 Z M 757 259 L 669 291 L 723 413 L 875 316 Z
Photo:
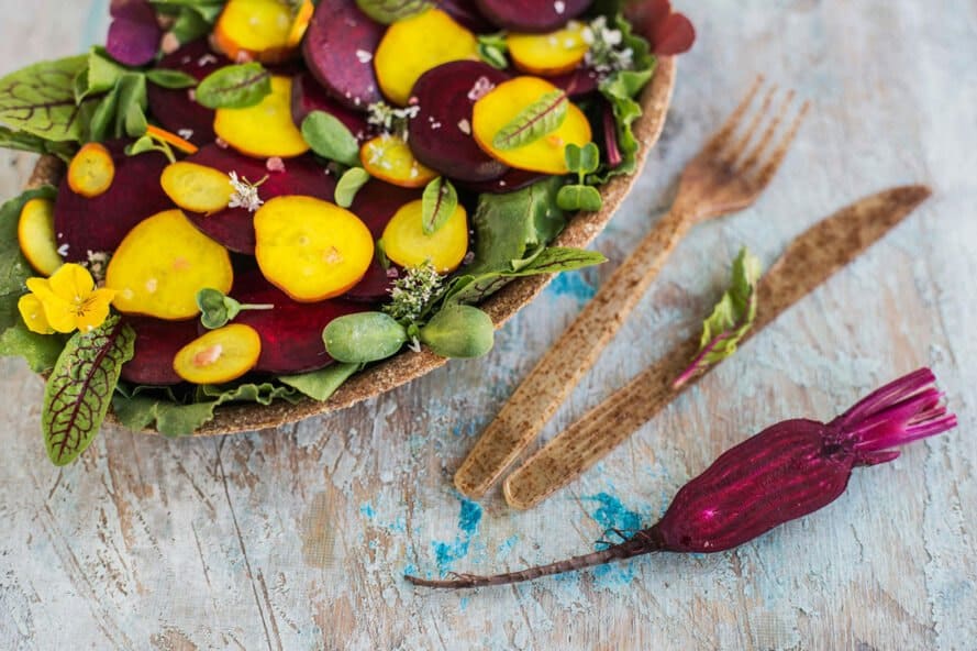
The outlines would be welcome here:
M 84 109 L 75 103 L 75 77 L 88 56 L 42 62 L 0 79 L 0 122 L 46 141 L 80 141 Z

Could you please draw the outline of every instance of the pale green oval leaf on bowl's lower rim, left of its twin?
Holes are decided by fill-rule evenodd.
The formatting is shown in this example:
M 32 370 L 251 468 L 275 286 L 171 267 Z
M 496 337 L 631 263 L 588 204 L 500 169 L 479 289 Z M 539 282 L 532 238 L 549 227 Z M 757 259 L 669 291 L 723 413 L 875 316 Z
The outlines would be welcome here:
M 384 312 L 357 312 L 330 321 L 322 341 L 334 360 L 364 364 L 395 355 L 407 342 L 407 330 Z

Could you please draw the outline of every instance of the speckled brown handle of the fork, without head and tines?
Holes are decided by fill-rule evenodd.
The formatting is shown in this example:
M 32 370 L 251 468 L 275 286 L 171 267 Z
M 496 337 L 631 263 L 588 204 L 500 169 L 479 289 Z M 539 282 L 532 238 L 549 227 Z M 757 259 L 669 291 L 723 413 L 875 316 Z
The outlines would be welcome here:
M 485 495 L 533 442 L 618 332 L 692 222 L 688 210 L 673 206 L 614 271 L 481 433 L 455 473 L 459 492 L 469 497 Z

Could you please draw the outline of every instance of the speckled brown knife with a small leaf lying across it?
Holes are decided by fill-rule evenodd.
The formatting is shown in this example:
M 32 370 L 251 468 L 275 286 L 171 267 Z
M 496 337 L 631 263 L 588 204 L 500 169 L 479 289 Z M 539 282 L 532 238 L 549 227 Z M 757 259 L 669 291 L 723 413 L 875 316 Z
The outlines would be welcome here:
M 925 186 L 891 188 L 839 210 L 795 239 L 757 284 L 756 319 L 742 342 L 855 260 L 930 195 Z M 704 375 L 673 388 L 698 351 L 696 334 L 541 448 L 506 478 L 506 500 L 530 508 L 590 468 Z

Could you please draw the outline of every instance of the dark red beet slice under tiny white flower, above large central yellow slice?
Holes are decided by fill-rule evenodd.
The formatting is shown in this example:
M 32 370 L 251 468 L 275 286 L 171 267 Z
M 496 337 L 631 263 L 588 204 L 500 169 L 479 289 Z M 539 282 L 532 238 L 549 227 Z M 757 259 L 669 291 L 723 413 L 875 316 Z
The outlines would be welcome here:
M 238 178 L 246 178 L 251 183 L 267 176 L 258 187 L 258 196 L 265 201 L 282 195 L 306 195 L 332 201 L 335 196 L 335 178 L 327 175 L 311 155 L 285 161 L 284 172 L 269 172 L 266 161 L 210 144 L 189 156 L 187 162 L 229 174 L 235 172 Z M 187 217 L 198 229 L 231 251 L 254 255 L 254 213 L 246 208 L 226 208 L 207 216 L 187 212 Z

